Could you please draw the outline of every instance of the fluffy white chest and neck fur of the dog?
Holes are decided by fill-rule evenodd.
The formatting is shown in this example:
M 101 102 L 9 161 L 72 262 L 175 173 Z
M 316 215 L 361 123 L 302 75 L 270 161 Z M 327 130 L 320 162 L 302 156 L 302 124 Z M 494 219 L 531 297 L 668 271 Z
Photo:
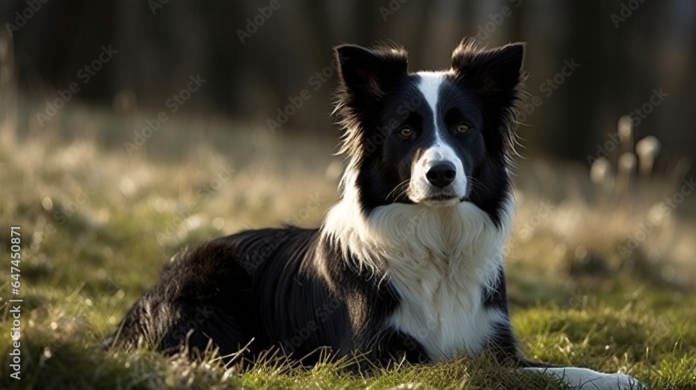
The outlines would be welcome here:
M 477 352 L 496 322 L 507 321 L 484 308 L 482 293 L 503 267 L 509 213 L 502 228 L 468 202 L 446 208 L 394 203 L 367 219 L 356 213 L 344 199 L 329 212 L 326 227 L 361 266 L 393 284 L 402 303 L 390 325 L 416 338 L 430 359 Z

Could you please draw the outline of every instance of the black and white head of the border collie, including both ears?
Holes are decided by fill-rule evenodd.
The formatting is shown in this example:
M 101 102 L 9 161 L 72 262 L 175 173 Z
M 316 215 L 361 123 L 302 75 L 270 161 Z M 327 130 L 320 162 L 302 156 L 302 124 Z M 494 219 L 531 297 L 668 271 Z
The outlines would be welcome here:
M 524 49 L 464 40 L 450 70 L 411 73 L 404 49 L 336 47 L 335 112 L 351 181 L 344 184 L 357 189 L 363 210 L 395 202 L 499 206 L 496 196 L 509 196 L 507 167 L 525 96 Z

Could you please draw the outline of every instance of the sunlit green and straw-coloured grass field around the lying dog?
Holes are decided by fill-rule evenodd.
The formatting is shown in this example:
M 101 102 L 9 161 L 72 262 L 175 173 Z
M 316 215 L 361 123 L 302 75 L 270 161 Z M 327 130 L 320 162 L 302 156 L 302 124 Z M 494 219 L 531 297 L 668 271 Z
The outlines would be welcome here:
M 147 116 L 63 111 L 45 127 L 20 116 L 29 125 L 0 134 L 1 388 L 563 388 L 486 356 L 356 375 L 341 373 L 345 362 L 304 369 L 269 356 L 240 372 L 213 353 L 191 363 L 104 350 L 103 338 L 178 249 L 239 228 L 318 224 L 342 162 L 331 137 L 183 116 L 129 155 L 123 142 Z M 621 192 L 593 184 L 582 166 L 522 165 L 507 269 L 526 354 L 628 373 L 651 389 L 696 389 L 696 197 L 661 208 L 682 178 L 637 180 Z M 10 226 L 21 226 L 17 296 Z M 626 253 L 631 240 L 639 243 Z M 24 299 L 21 380 L 10 378 L 14 297 Z

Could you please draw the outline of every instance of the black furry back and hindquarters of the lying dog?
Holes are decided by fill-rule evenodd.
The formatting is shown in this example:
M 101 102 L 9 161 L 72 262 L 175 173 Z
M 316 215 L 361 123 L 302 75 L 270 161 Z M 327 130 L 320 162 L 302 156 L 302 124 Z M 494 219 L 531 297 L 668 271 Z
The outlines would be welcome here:
M 303 267 L 313 261 L 316 240 L 317 230 L 263 229 L 177 254 L 159 283 L 129 310 L 111 343 L 150 345 L 163 352 L 187 345 L 198 354 L 213 341 L 222 355 L 247 344 L 252 351 L 277 345 L 298 354 L 331 345 L 322 327 L 342 321 L 345 307 L 327 299 L 326 288 L 307 271 L 311 267 Z M 302 305 L 289 307 L 288 302 Z M 317 314 L 324 321 L 310 326 Z M 313 329 L 303 330 L 308 326 Z M 285 345 L 277 343 L 283 340 Z

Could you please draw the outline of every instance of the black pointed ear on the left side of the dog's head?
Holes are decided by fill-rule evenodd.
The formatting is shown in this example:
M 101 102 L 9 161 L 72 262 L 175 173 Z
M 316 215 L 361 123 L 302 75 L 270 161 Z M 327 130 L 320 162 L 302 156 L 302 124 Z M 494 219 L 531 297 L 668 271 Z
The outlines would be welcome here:
M 379 100 L 406 75 L 409 59 L 404 49 L 367 49 L 340 45 L 334 49 L 338 72 L 345 91 L 353 101 Z

